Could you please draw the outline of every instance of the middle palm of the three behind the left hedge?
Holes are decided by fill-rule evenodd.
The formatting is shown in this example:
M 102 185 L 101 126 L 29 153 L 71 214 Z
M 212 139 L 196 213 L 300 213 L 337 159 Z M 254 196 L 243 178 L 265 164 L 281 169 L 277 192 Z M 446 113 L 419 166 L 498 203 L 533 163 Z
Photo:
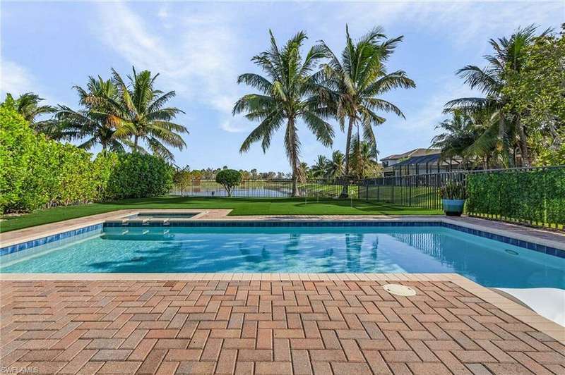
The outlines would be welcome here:
M 59 139 L 82 140 L 83 149 L 92 149 L 95 145 L 102 146 L 102 154 L 107 150 L 124 152 L 124 145 L 129 145 L 129 135 L 133 128 L 129 123 L 124 123 L 112 113 L 112 106 L 108 99 L 116 101 L 117 88 L 111 80 L 88 78 L 86 90 L 75 86 L 80 97 L 80 104 L 85 107 L 74 111 L 68 106 L 59 106 L 55 118 L 59 122 Z

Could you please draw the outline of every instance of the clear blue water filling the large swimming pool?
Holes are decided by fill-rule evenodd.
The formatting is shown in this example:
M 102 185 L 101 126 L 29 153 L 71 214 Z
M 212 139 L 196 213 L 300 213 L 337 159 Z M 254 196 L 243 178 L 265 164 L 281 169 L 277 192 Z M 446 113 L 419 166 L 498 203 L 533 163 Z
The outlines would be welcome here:
M 104 228 L 0 257 L 1 272 L 460 273 L 565 289 L 565 259 L 441 227 Z

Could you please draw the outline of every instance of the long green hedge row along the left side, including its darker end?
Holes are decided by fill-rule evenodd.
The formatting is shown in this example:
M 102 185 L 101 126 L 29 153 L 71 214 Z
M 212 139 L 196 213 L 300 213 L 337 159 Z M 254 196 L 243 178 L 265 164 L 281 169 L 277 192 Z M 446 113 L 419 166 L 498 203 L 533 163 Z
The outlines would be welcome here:
M 36 135 L 0 106 L 0 211 L 26 212 L 169 192 L 173 168 L 147 154 L 92 154 Z

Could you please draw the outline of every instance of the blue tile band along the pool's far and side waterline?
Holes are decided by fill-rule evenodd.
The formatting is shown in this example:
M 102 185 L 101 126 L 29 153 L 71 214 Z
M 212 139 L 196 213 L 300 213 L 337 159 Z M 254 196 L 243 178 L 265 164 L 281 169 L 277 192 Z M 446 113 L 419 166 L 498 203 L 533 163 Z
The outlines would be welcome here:
M 350 226 L 362 226 L 362 227 L 422 227 L 422 226 L 434 226 L 443 227 L 453 230 L 458 230 L 463 233 L 468 233 L 471 235 L 477 235 L 483 238 L 489 238 L 490 240 L 495 240 L 499 242 L 508 243 L 510 245 L 516 245 L 518 247 L 523 247 L 524 249 L 534 250 L 536 252 L 542 252 L 544 254 L 552 255 L 554 257 L 565 258 L 565 250 L 557 249 L 554 247 L 549 247 L 545 245 L 536 244 L 534 242 L 528 242 L 523 240 L 517 240 L 516 238 L 510 238 L 505 235 L 497 235 L 494 233 L 489 233 L 484 230 L 477 230 L 472 228 L 467 228 L 465 226 L 458 226 L 453 223 L 445 223 L 443 221 L 106 221 L 105 223 L 95 224 L 92 226 L 86 226 L 84 228 L 78 228 L 76 230 L 69 230 L 64 233 L 58 233 L 56 235 L 49 235 L 44 238 L 38 238 L 36 240 L 30 240 L 28 242 L 19 243 L 16 245 L 11 245 L 7 247 L 0 248 L 0 256 L 6 254 L 12 254 L 14 252 L 19 252 L 21 250 L 30 249 L 32 247 L 45 245 L 50 242 L 62 240 L 64 238 L 72 237 L 73 235 L 80 235 L 83 233 L 90 232 L 92 230 L 102 229 L 102 228 L 117 228 L 117 227 L 291 227 L 291 226 L 302 226 L 302 227 L 350 227 Z

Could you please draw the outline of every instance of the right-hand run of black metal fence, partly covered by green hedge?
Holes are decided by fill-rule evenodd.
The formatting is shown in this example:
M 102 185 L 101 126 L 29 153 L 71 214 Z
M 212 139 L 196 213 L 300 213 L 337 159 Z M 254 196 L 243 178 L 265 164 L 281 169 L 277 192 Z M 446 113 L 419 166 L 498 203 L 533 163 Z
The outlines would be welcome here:
M 565 166 L 453 171 L 363 180 L 360 199 L 441 209 L 441 187 L 465 185 L 471 216 L 564 229 Z

